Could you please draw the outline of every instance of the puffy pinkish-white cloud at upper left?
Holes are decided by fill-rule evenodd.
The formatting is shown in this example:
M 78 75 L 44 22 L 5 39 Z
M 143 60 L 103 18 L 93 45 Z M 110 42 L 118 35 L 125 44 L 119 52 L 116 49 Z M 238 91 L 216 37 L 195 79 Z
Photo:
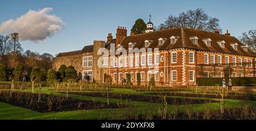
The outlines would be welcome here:
M 50 11 L 52 8 L 30 10 L 16 20 L 7 20 L 0 25 L 0 34 L 18 32 L 22 41 L 44 42 L 65 27 L 60 18 L 48 14 Z

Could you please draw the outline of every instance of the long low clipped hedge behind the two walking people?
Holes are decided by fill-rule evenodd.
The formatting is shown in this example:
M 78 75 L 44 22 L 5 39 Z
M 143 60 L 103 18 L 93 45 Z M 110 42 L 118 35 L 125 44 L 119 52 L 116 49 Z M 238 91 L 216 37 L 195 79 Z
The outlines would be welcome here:
M 222 85 L 223 78 L 197 78 L 197 84 L 199 86 L 216 86 Z M 233 86 L 256 86 L 256 77 L 232 77 Z M 229 78 L 225 78 L 226 84 L 228 84 Z

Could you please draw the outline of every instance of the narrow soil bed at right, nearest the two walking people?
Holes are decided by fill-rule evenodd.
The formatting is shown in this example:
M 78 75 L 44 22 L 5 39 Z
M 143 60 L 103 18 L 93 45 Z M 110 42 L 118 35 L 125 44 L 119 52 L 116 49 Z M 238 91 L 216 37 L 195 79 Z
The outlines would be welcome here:
M 188 94 L 188 93 L 147 93 L 151 95 L 168 95 L 168 96 L 181 96 L 181 97 L 202 97 L 202 98 L 221 98 L 219 94 Z M 255 101 L 253 96 L 243 96 L 243 95 L 225 95 L 224 99 L 243 99 Z

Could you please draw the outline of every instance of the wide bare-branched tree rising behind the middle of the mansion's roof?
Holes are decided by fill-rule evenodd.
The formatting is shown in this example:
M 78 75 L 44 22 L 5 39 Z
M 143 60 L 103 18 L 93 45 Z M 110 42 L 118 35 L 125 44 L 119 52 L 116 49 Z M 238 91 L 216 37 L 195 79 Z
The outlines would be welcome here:
M 212 18 L 202 8 L 181 12 L 179 16 L 169 15 L 164 23 L 160 24 L 158 29 L 170 29 L 176 27 L 187 27 L 205 31 L 220 29 L 217 18 Z M 220 29 L 221 30 L 221 29 Z

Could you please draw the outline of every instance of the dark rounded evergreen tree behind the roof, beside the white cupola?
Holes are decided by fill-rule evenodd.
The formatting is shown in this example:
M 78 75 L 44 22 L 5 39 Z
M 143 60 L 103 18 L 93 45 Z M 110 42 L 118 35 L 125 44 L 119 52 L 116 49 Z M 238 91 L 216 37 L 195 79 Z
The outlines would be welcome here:
M 145 33 L 146 28 L 146 23 L 144 23 L 144 21 L 140 18 L 135 21 L 133 28 L 131 28 L 131 32 L 134 32 L 135 34 L 142 34 Z

